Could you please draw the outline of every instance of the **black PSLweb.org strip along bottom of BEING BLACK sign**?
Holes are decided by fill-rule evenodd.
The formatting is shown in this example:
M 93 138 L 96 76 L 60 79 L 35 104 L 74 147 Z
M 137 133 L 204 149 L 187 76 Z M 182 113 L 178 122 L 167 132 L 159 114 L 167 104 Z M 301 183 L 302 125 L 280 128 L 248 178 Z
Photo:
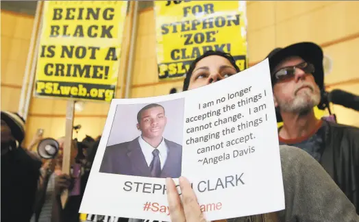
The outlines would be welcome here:
M 114 98 L 114 86 L 96 84 L 77 84 L 72 82 L 36 82 L 36 94 L 46 97 L 70 97 L 111 101 Z

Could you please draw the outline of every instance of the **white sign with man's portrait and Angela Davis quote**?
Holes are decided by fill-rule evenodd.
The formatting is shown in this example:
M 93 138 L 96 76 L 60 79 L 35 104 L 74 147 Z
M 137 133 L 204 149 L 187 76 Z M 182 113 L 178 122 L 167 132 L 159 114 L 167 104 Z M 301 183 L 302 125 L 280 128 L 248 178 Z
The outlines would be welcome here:
M 181 175 L 209 221 L 284 209 L 268 60 L 186 92 L 113 99 L 80 212 L 170 221 L 164 177 Z

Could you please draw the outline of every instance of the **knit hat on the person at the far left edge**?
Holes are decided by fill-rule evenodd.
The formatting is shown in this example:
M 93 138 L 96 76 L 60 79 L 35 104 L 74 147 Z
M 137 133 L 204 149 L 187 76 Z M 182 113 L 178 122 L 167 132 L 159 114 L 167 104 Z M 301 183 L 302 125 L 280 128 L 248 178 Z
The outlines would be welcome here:
M 19 114 L 8 111 L 1 111 L 1 120 L 10 127 L 11 134 L 19 144 L 25 138 L 25 120 Z

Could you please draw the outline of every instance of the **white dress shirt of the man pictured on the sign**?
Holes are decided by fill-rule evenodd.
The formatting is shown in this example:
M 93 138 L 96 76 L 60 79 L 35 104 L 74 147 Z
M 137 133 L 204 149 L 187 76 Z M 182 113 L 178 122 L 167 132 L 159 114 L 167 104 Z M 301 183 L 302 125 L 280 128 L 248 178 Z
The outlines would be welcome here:
M 143 140 L 142 136 L 138 137 L 138 143 L 140 143 L 140 147 L 143 152 L 143 156 L 145 156 L 147 166 L 149 166 L 153 160 L 153 154 L 152 154 L 153 149 L 158 149 L 158 151 L 160 151 L 158 156 L 160 157 L 161 170 L 162 170 L 168 154 L 168 147 L 166 146 L 166 143 L 164 143 L 164 139 L 162 138 L 162 142 L 160 143 L 160 145 L 158 145 L 157 148 L 149 145 L 149 143 Z

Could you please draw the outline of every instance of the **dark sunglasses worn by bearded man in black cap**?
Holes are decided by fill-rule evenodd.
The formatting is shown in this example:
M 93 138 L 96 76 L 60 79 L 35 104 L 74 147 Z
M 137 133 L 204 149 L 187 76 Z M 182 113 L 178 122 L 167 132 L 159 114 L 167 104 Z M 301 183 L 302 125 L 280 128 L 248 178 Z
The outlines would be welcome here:
M 276 82 L 294 77 L 296 69 L 301 69 L 304 73 L 308 74 L 313 74 L 315 71 L 314 65 L 309 62 L 302 62 L 301 64 L 297 64 L 295 66 L 287 66 L 274 73 L 272 83 L 275 84 Z

